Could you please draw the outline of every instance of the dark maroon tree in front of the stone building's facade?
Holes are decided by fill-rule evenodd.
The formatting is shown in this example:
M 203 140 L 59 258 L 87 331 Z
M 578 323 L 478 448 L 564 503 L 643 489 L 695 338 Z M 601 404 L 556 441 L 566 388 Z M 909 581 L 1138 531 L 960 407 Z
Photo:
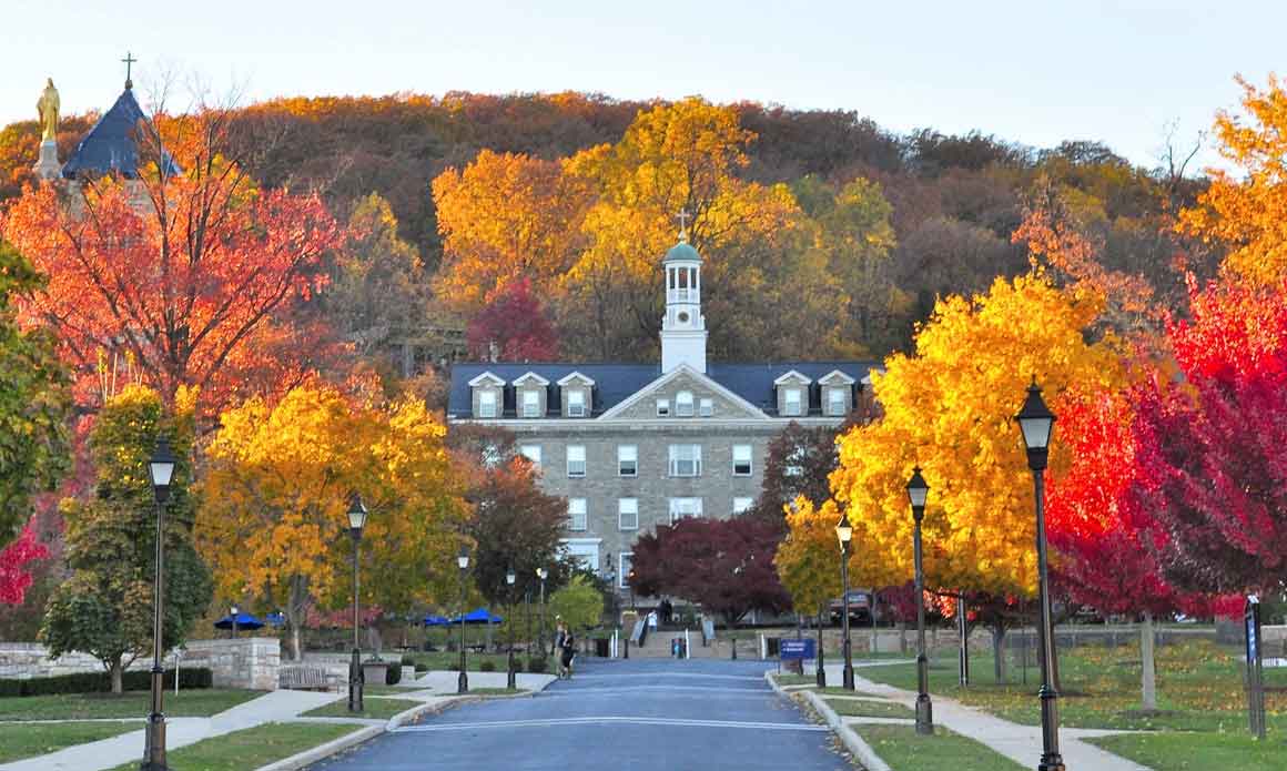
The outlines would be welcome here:
M 790 596 L 777 581 L 773 552 L 781 526 L 762 517 L 689 517 L 634 543 L 631 586 L 642 595 L 691 600 L 736 624 L 752 610 L 781 613 Z

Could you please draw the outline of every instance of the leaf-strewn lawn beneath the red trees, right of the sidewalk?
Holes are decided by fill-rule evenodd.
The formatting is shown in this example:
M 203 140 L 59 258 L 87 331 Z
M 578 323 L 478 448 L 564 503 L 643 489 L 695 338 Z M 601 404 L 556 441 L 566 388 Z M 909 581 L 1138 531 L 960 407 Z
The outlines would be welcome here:
M 1176 730 L 1245 734 L 1246 698 L 1242 690 L 1239 647 L 1218 646 L 1208 641 L 1189 641 L 1157 649 L 1157 689 L 1160 712 L 1139 711 L 1140 664 L 1138 646 L 1082 646 L 1059 653 L 1062 698 L 1060 725 L 1081 729 Z M 997 685 L 991 656 L 974 655 L 972 683 L 956 683 L 956 659 L 931 662 L 929 690 L 979 707 L 1006 720 L 1040 725 L 1036 698 L 1040 672 L 1028 668 L 1028 682 L 1017 682 L 1018 667 L 1010 667 L 1010 680 Z M 906 690 L 916 689 L 915 665 L 873 667 L 862 677 Z M 1287 671 L 1266 669 L 1270 685 L 1287 685 Z M 1270 734 L 1287 731 L 1287 695 L 1269 696 Z

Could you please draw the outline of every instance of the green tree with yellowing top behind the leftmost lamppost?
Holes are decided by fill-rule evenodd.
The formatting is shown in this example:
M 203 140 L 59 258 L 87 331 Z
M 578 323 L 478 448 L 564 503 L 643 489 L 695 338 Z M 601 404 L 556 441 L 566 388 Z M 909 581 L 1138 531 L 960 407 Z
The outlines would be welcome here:
M 158 436 L 170 438 L 179 458 L 165 503 L 162 645 L 181 644 L 210 605 L 210 571 L 192 538 L 193 403 L 180 389 L 174 412 L 166 413 L 161 396 L 143 386 L 111 399 L 89 443 L 95 494 L 62 505 L 71 575 L 49 600 L 41 637 L 51 655 L 79 650 L 99 659 L 112 676 L 112 692 L 121 692 L 125 668 L 152 649 L 156 508 L 147 461 Z

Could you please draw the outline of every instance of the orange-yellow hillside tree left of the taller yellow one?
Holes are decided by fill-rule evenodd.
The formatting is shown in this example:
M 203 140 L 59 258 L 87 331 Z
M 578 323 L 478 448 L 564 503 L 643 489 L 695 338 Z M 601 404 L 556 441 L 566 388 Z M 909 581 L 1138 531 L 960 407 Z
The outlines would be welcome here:
M 463 170 L 434 180 L 443 264 L 438 293 L 475 313 L 519 278 L 546 293 L 574 259 L 583 180 L 559 161 L 484 149 Z

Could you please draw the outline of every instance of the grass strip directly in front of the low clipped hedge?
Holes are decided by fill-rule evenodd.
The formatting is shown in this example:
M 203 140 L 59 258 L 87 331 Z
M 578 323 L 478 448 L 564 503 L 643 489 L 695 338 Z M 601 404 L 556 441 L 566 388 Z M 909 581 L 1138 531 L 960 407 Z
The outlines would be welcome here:
M 263 695 L 263 691 L 225 689 L 192 689 L 179 691 L 178 695 L 167 691 L 165 713 L 167 717 L 210 717 Z M 151 711 L 152 698 L 148 691 L 0 699 L 0 721 L 147 717 Z

